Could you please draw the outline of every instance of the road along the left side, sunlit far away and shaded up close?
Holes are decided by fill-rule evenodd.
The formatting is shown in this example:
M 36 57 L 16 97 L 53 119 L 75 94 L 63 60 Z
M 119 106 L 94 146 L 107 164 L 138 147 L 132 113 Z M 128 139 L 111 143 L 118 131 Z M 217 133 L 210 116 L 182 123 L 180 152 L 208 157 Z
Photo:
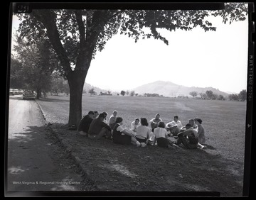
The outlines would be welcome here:
M 10 96 L 6 191 L 87 189 L 48 132 L 36 101 Z

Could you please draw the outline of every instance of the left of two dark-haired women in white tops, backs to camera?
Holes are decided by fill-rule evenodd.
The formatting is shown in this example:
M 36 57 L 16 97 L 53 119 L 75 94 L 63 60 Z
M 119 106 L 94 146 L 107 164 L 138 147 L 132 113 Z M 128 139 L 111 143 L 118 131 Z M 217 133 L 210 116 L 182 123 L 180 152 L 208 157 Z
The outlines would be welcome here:
M 136 139 L 139 143 L 149 143 L 150 128 L 146 118 L 141 118 L 141 125 L 137 126 Z

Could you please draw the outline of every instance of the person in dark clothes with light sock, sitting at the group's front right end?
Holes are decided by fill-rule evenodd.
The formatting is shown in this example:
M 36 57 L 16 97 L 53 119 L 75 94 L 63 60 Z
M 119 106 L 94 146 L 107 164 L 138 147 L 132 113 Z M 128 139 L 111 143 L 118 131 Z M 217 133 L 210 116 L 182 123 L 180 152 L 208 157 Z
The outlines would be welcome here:
M 186 130 L 181 133 L 178 133 L 178 139 L 176 141 L 176 145 L 183 144 L 187 149 L 203 149 L 204 146 L 198 143 L 198 135 L 196 130 L 193 130 L 193 127 L 190 123 L 186 124 Z

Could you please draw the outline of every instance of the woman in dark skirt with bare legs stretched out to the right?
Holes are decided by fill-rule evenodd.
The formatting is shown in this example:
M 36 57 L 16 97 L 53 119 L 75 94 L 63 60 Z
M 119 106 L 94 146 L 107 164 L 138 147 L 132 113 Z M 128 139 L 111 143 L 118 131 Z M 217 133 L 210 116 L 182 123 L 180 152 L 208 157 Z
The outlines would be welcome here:
M 144 147 L 146 146 L 145 143 L 139 143 L 135 138 L 135 134 L 132 131 L 125 129 L 122 126 L 122 117 L 117 117 L 116 125 L 113 129 L 113 143 L 121 144 L 121 145 L 128 145 L 133 144 L 137 145 L 137 147 Z

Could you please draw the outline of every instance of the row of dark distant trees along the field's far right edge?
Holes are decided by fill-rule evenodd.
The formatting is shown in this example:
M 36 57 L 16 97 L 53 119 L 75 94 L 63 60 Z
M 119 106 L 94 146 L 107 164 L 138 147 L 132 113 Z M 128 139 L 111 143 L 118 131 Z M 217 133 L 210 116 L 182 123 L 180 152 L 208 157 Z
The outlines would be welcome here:
M 195 96 L 200 95 L 201 99 L 221 100 L 221 101 L 225 101 L 225 100 L 245 101 L 246 96 L 247 96 L 247 92 L 246 92 L 245 89 L 240 91 L 239 94 L 230 94 L 230 95 L 228 95 L 228 99 L 227 99 L 227 97 L 225 97 L 221 94 L 220 95 L 214 94 L 213 91 L 211 91 L 211 90 L 207 90 L 206 93 L 203 93 L 203 92 L 198 93 L 197 91 L 191 91 L 189 94 L 192 96 L 192 98 L 194 98 Z

